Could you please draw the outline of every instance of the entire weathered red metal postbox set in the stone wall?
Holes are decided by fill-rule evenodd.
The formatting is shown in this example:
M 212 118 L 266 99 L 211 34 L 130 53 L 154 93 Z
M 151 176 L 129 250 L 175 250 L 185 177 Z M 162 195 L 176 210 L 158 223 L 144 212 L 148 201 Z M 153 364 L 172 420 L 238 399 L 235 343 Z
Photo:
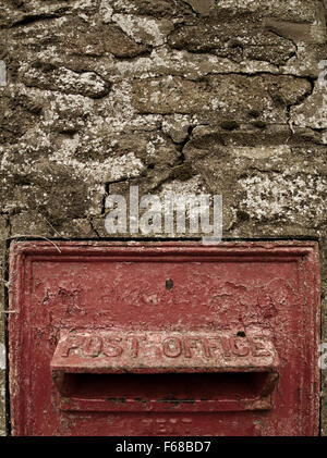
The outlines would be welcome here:
M 314 243 L 16 243 L 15 435 L 314 435 Z

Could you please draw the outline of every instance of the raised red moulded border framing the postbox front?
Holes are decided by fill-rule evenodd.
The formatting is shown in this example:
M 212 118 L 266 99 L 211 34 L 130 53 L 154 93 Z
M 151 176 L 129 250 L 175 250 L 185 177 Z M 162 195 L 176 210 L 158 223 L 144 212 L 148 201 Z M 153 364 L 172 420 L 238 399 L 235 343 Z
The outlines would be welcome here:
M 303 284 L 303 294 L 306 298 L 306 309 L 303 317 L 303 333 L 307 342 L 303 358 L 307 366 L 304 374 L 304 388 L 300 403 L 305 403 L 306 426 L 303 434 L 317 435 L 319 423 L 319 369 L 318 345 L 320 330 L 319 307 L 319 262 L 318 246 L 314 242 L 251 242 L 251 243 L 220 243 L 216 246 L 202 246 L 192 242 L 19 242 L 13 243 L 10 253 L 10 305 L 9 305 L 9 336 L 10 336 L 10 399 L 11 422 L 14 435 L 29 434 L 28 426 L 32 421 L 31 408 L 27 398 L 33 386 L 29 384 L 26 368 L 31 364 L 28 325 L 28 304 L 31 290 L 32 268 L 34 262 L 50 261 L 72 262 L 83 260 L 108 260 L 112 262 L 185 262 L 198 260 L 199 262 L 232 262 L 255 261 L 257 259 L 276 262 L 295 262 Z M 302 287 L 301 286 L 301 287 Z M 31 324 L 29 324 L 31 325 Z M 43 345 L 40 335 L 39 345 Z M 28 372 L 28 371 L 27 371 Z M 172 406 L 173 407 L 173 406 Z M 69 410 L 69 409 L 68 409 Z M 76 407 L 78 410 L 78 407 Z M 86 409 L 87 410 L 87 409 Z M 92 409 L 90 409 L 92 410 Z M 105 409 L 106 410 L 106 409 Z M 119 410 L 119 408 L 117 409 Z M 122 409 L 123 410 L 123 409 Z M 182 431 L 182 434 L 185 432 Z M 217 431 L 219 433 L 219 431 Z M 272 431 L 274 434 L 274 431 Z M 154 433 L 156 435 L 156 433 Z M 179 435 L 172 433 L 172 435 Z M 192 435 L 192 432 L 191 432 Z

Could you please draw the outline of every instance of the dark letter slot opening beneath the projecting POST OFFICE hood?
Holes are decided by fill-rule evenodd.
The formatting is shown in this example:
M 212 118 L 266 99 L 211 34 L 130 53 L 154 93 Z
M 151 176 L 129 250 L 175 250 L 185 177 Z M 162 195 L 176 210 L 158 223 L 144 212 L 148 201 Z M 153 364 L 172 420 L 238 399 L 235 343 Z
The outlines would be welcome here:
M 65 373 L 58 388 L 62 410 L 265 410 L 277 379 L 276 372 Z

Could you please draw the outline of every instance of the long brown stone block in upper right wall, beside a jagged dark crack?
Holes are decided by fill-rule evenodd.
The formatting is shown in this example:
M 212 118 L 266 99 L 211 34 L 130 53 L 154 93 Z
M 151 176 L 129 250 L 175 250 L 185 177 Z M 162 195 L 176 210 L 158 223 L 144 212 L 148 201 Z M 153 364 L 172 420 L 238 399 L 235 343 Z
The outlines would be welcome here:
M 148 78 L 133 84 L 140 113 L 211 113 L 241 122 L 257 110 L 262 120 L 287 122 L 287 108 L 311 92 L 306 79 L 290 76 L 221 75 L 190 82 L 180 77 Z

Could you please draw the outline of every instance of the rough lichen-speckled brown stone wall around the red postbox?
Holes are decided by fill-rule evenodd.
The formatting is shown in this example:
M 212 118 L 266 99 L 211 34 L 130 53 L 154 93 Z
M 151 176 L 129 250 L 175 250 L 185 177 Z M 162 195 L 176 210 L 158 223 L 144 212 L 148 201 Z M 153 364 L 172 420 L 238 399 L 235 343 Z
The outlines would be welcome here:
M 225 238 L 319 240 L 327 342 L 326 8 L 1 2 L 1 260 L 16 236 L 108 237 L 105 198 L 131 184 L 222 194 Z M 5 293 L 5 261 L 2 277 Z M 0 385 L 4 434 L 2 366 Z M 322 393 L 326 435 L 324 377 Z

